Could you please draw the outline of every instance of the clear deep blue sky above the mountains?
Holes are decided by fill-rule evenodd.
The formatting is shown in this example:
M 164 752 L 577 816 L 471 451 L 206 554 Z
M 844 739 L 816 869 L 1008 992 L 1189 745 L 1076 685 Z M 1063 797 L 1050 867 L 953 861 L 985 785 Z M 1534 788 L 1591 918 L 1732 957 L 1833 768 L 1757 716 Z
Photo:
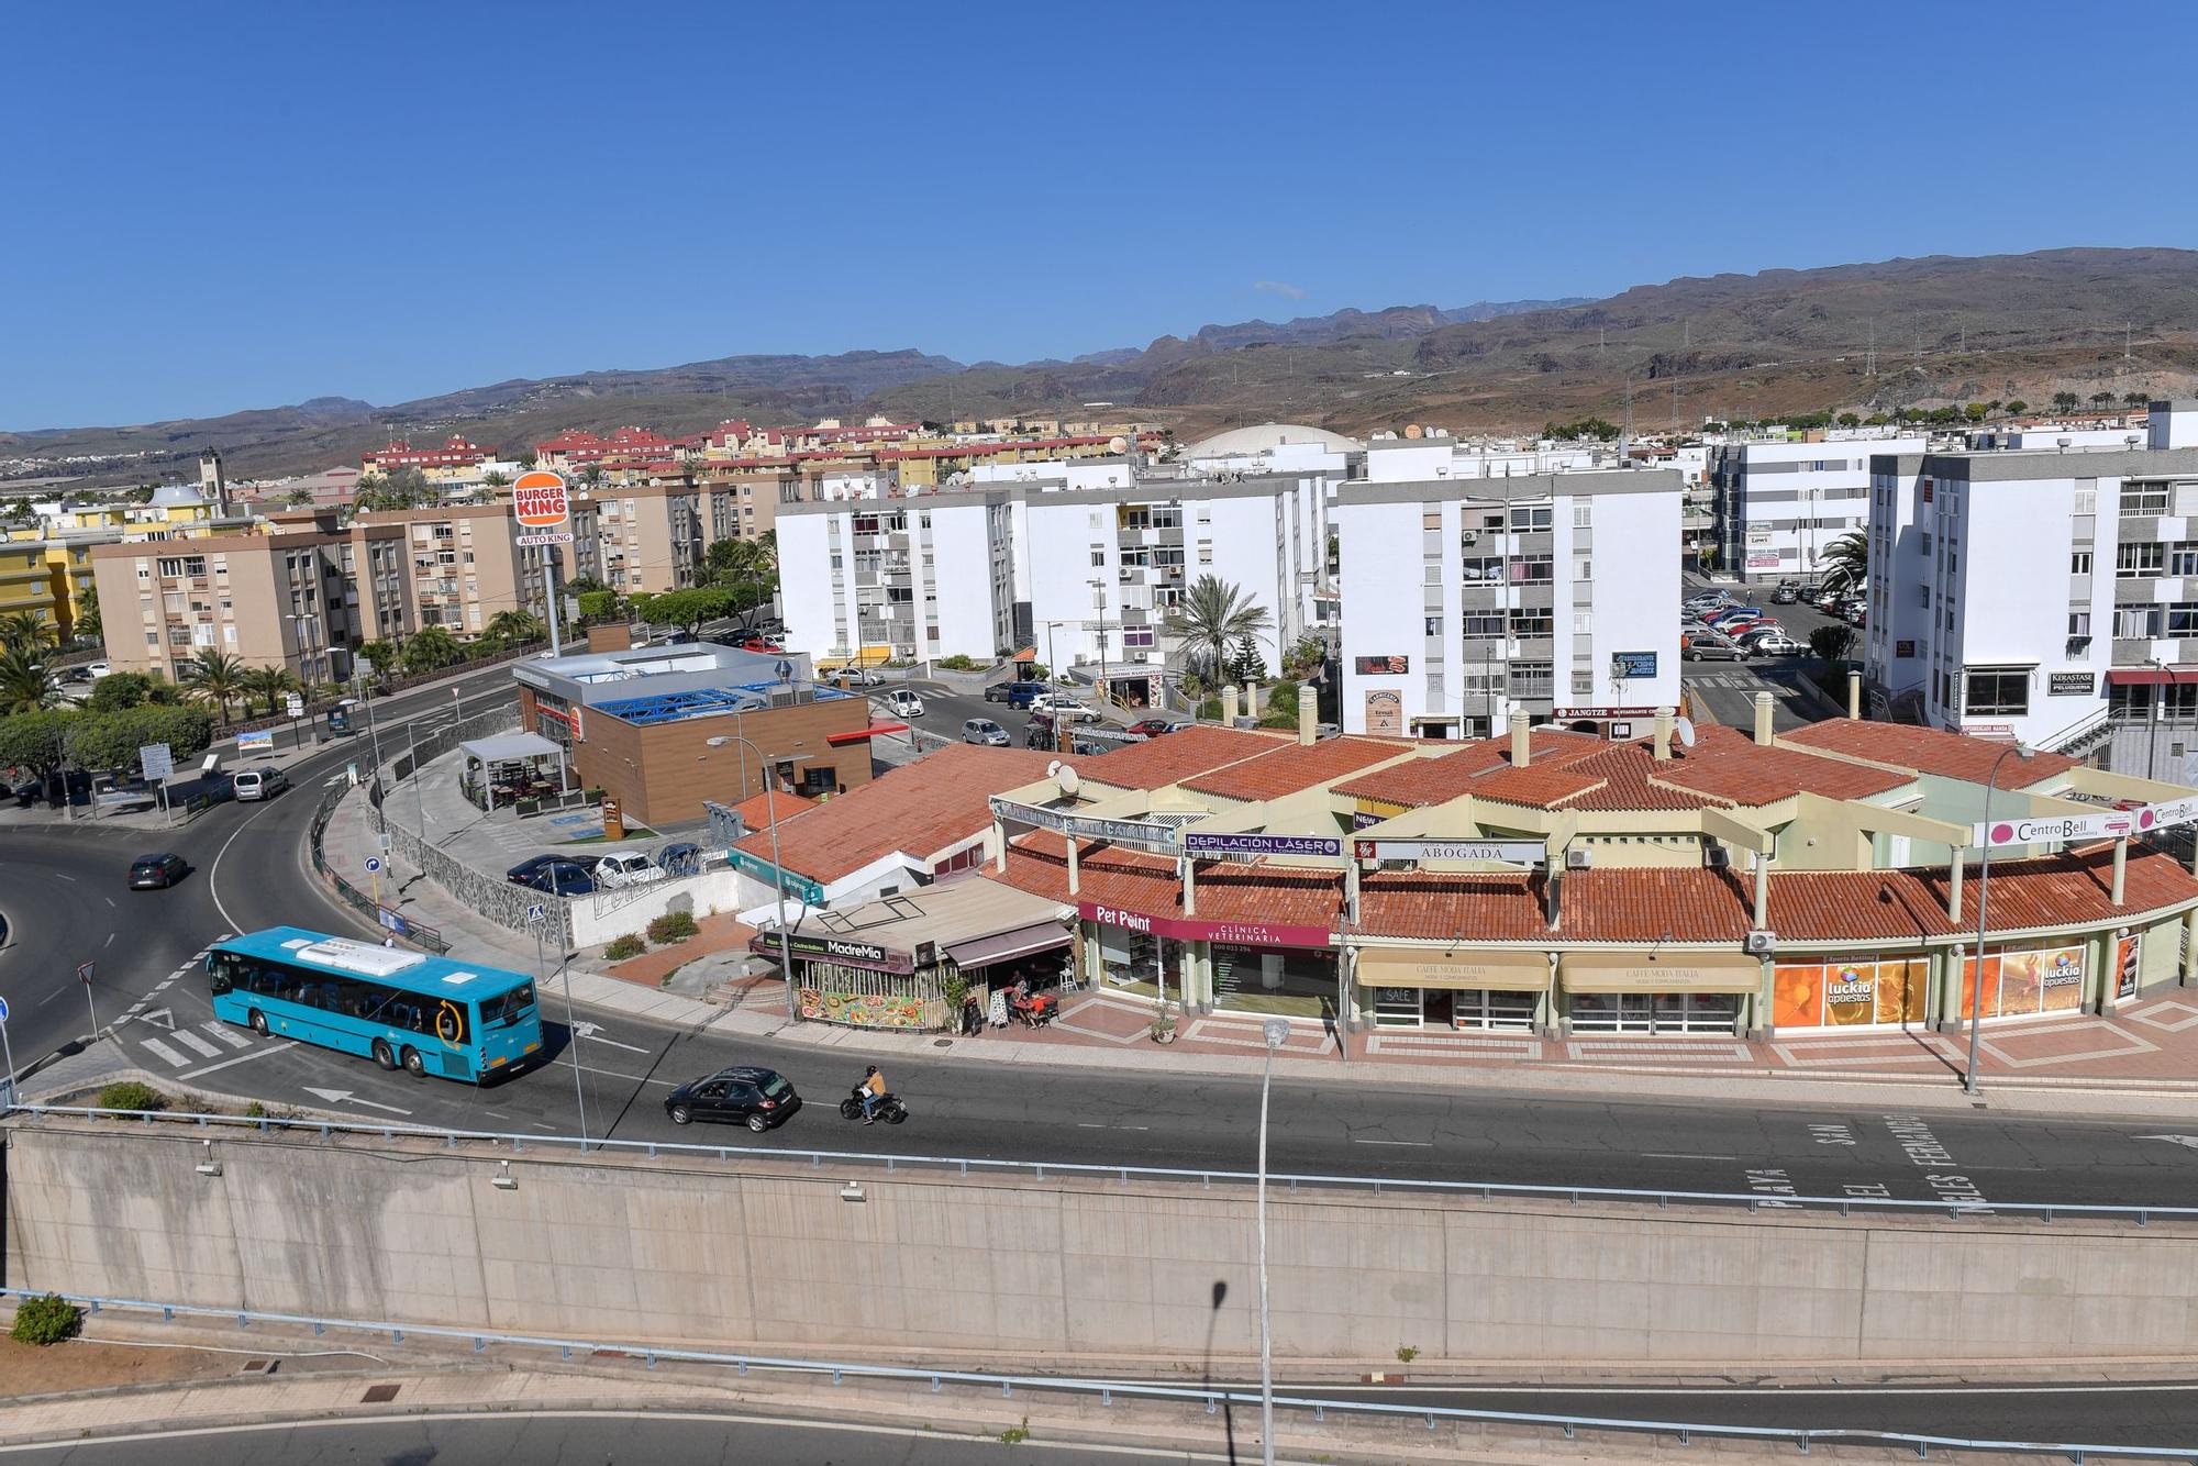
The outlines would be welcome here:
M 2145 57 L 2194 44 L 2180 4 L 35 4 L 0 429 L 2187 246 L 2198 114 Z

